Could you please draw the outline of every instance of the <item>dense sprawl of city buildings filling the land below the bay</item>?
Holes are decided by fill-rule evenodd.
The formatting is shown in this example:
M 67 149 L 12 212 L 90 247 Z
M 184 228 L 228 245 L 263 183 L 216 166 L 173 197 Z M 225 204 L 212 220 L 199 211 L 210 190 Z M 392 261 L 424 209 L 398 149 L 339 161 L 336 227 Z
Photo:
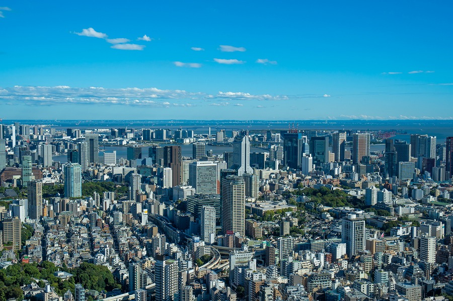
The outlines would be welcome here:
M 130 143 L 169 140 L 192 143 L 193 156 L 178 144 L 146 153 Z M 212 154 L 207 142 L 232 151 Z M 253 142 L 268 142 L 268 153 L 251 152 Z M 123 287 L 79 285 L 64 296 L 24 287 L 42 300 L 442 300 L 434 297 L 453 294 L 453 137 L 385 139 L 371 151 L 377 142 L 372 132 L 294 128 L 195 135 L 2 125 L 1 266 L 16 251 L 23 263 L 89 262 Z M 131 145 L 116 158 L 99 152 L 102 143 Z M 114 185 L 87 195 L 88 182 Z M 44 193 L 59 184 L 62 193 Z M 340 190 L 349 204 L 320 204 L 304 188 L 318 197 Z M 22 244 L 24 224 L 34 232 Z

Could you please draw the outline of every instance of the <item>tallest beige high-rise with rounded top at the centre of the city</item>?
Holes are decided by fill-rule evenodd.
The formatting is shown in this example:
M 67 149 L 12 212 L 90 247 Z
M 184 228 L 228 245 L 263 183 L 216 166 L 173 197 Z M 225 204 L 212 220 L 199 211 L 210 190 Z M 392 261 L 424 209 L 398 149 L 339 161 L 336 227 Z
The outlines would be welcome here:
M 223 233 L 245 235 L 245 182 L 241 176 L 228 175 L 222 180 L 220 193 Z

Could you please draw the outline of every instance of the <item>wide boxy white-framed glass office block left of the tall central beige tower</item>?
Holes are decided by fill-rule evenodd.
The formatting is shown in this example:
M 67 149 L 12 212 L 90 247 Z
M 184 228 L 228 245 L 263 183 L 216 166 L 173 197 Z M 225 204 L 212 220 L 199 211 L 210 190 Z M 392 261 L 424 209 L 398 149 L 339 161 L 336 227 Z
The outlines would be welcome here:
M 217 194 L 217 164 L 210 161 L 190 163 L 189 185 L 198 194 Z

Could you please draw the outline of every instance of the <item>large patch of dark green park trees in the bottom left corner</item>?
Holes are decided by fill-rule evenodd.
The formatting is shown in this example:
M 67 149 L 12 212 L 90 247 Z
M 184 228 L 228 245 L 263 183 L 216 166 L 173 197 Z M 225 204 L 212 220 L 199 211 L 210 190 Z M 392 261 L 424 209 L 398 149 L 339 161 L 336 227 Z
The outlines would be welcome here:
M 54 272 L 64 270 L 73 274 L 68 280 L 62 280 L 54 275 Z M 46 282 L 55 288 L 57 294 L 62 296 L 68 289 L 74 293 L 75 283 L 81 283 L 85 289 L 113 290 L 121 288 L 116 283 L 109 269 L 102 265 L 95 265 L 83 262 L 80 267 L 68 269 L 56 267 L 52 262 L 43 261 L 41 264 L 25 263 L 12 264 L 6 269 L 0 269 L 0 301 L 8 298 L 22 300 L 24 292 L 21 285 L 37 282 L 40 287 L 44 287 Z

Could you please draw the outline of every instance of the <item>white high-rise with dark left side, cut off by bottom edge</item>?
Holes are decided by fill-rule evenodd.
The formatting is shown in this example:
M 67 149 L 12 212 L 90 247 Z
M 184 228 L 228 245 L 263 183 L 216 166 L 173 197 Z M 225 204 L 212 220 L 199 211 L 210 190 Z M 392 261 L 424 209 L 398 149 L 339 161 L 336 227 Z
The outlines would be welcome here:
M 156 300 L 172 301 L 178 293 L 178 261 L 165 260 L 164 255 L 156 256 L 155 265 Z

